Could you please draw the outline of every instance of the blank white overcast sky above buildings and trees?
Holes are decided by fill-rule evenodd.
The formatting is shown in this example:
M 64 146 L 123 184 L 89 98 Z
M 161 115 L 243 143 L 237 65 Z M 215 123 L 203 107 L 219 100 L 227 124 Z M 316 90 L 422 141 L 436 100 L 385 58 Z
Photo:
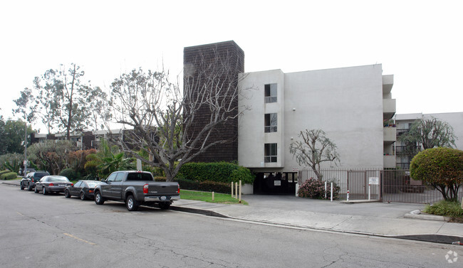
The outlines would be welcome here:
M 108 89 L 133 68 L 182 72 L 183 48 L 234 40 L 245 71 L 383 64 L 397 113 L 463 112 L 462 1 L 1 1 L 0 113 L 76 63 Z M 44 129 L 42 129 L 44 130 Z

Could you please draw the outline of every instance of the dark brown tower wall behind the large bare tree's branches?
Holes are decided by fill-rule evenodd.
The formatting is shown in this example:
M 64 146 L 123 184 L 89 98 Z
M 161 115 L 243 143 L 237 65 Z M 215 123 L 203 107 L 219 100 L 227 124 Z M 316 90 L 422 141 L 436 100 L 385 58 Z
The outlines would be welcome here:
M 196 83 L 193 90 L 212 90 L 212 85 L 207 83 L 204 75 L 199 75 L 202 70 L 214 69 L 211 66 L 217 63 L 226 63 L 230 66 L 229 73 L 221 74 L 219 82 L 225 86 L 237 87 L 239 73 L 244 73 L 244 51 L 234 41 L 197 45 L 184 48 L 184 80 L 192 79 Z M 190 75 L 190 76 L 189 76 Z M 187 77 L 188 76 L 188 77 Z M 214 83 L 217 85 L 217 83 Z M 184 86 L 184 91 L 187 87 Z M 227 103 L 238 107 L 238 100 L 224 97 Z M 231 116 L 236 116 L 237 109 Z M 194 136 L 206 124 L 209 123 L 211 112 L 209 107 L 202 106 L 194 117 L 194 124 L 188 135 Z M 209 137 L 208 141 L 227 141 L 210 147 L 207 151 L 199 154 L 193 161 L 214 162 L 214 161 L 237 161 L 238 160 L 238 118 L 227 120 L 220 125 Z

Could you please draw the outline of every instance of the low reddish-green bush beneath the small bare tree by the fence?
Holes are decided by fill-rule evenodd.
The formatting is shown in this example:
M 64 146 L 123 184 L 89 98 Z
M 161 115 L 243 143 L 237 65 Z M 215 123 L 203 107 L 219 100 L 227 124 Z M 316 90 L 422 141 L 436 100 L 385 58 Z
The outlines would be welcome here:
M 340 187 L 333 182 L 333 199 L 339 198 Z M 326 198 L 331 198 L 331 182 L 326 185 Z M 298 189 L 298 196 L 301 198 L 324 199 L 325 198 L 325 182 L 318 181 L 315 178 L 309 178 L 302 183 Z

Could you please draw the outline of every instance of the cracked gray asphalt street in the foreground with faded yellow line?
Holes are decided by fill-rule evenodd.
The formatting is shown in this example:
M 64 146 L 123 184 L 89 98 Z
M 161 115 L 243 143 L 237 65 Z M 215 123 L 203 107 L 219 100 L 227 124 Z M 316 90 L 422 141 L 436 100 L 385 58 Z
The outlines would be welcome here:
M 460 246 L 157 208 L 129 212 L 123 203 L 95 205 L 5 184 L 0 202 L 0 267 L 458 267 L 463 261 Z

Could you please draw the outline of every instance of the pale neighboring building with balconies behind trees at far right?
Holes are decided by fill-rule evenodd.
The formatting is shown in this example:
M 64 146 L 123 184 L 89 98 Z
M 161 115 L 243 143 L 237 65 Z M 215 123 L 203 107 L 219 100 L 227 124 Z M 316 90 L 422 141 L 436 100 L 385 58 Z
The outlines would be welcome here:
M 421 144 L 405 144 L 400 141 L 400 136 L 407 132 L 415 120 L 431 119 L 435 117 L 440 121 L 447 122 L 453 127 L 454 134 L 457 136 L 455 145 L 457 149 L 463 149 L 463 112 L 448 112 L 438 114 L 396 114 L 394 117 L 395 125 L 397 126 L 397 143 L 395 144 L 395 154 L 397 159 L 397 167 L 409 169 L 410 162 L 421 149 Z

